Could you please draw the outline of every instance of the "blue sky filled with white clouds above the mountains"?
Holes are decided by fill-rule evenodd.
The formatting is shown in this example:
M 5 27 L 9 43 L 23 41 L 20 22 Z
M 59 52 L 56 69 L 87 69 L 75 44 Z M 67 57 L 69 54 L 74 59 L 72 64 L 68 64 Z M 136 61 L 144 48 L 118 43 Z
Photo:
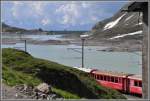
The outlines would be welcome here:
M 98 21 L 110 17 L 114 10 L 107 2 L 93 1 L 7 1 L 3 4 L 3 21 L 29 27 L 58 26 L 74 28 L 75 26 L 92 26 Z M 113 3 L 114 4 L 114 3 Z M 113 6 L 113 5 L 112 5 Z M 115 6 L 114 6 L 115 7 Z M 80 28 L 80 27 L 78 27 Z M 87 27 L 86 27 L 87 28 Z

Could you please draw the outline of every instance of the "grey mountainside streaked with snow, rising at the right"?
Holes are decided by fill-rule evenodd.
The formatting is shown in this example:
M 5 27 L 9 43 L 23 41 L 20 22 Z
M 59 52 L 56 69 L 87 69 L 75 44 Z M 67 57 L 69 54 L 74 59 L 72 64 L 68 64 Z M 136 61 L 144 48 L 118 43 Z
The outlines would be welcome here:
M 114 46 L 113 48 L 141 50 L 142 14 L 123 12 L 122 10 L 126 10 L 128 5 L 124 5 L 111 18 L 98 22 L 91 30 L 91 40 L 104 42 Z

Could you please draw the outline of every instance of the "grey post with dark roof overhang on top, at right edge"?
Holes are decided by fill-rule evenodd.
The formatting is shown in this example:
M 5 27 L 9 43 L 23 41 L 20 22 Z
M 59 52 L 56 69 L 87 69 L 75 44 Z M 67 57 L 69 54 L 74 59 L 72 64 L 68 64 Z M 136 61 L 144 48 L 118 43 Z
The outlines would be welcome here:
M 143 43 L 142 43 L 142 97 L 148 99 L 148 78 L 149 78 L 149 54 L 148 54 L 148 2 L 133 2 L 128 6 L 127 12 L 142 12 Z

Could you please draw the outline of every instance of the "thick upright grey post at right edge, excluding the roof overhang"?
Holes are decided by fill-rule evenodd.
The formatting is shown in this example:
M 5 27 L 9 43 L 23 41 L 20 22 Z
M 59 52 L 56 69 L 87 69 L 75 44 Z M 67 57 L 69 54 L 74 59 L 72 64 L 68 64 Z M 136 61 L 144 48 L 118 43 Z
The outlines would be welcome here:
M 143 5 L 143 45 L 142 45 L 142 85 L 143 85 L 143 98 L 148 99 L 148 3 Z

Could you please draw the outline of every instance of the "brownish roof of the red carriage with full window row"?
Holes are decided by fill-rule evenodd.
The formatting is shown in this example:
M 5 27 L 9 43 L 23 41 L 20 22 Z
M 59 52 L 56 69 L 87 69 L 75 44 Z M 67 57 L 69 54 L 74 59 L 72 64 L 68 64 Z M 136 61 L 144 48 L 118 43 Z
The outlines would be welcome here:
M 102 71 L 102 70 L 95 70 L 92 73 L 101 74 L 101 75 L 109 75 L 109 76 L 117 76 L 117 77 L 126 77 L 129 75 L 133 75 L 133 74 L 123 73 L 123 72 L 112 72 L 112 71 Z

